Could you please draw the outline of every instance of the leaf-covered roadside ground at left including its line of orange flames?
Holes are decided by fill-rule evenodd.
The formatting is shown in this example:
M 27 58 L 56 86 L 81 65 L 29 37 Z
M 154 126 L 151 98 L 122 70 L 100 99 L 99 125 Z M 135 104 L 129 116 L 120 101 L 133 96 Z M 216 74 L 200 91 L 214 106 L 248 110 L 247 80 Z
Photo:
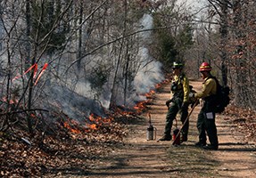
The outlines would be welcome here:
M 164 84 L 164 83 L 163 83 Z M 156 85 L 156 88 L 161 85 Z M 33 133 L 29 133 L 27 113 L 19 112 L 0 132 L 0 177 L 37 177 L 47 174 L 87 175 L 100 158 L 124 146 L 132 122 L 153 102 L 155 91 L 145 93 L 145 101 L 132 109 L 123 106 L 105 113 L 90 114 L 83 120 L 62 111 L 33 111 Z M 4 113 L 4 111 L 2 111 Z M 2 116 L 3 121 L 6 115 Z

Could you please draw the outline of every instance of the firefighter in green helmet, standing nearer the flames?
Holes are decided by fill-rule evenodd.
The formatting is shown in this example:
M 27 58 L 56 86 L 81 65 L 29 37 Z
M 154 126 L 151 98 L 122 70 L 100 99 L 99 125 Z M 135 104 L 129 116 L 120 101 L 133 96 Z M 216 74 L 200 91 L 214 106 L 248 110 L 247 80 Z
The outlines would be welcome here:
M 178 111 L 180 111 L 180 120 L 184 124 L 181 131 L 181 142 L 187 141 L 189 122 L 186 120 L 188 115 L 188 99 L 189 99 L 189 81 L 184 72 L 183 64 L 181 62 L 173 62 L 173 74 L 174 80 L 172 81 L 170 92 L 172 98 L 166 101 L 168 112 L 166 115 L 166 125 L 164 135 L 158 141 L 170 141 L 171 140 L 171 127 L 173 120 L 176 118 Z M 186 121 L 186 123 L 185 123 Z

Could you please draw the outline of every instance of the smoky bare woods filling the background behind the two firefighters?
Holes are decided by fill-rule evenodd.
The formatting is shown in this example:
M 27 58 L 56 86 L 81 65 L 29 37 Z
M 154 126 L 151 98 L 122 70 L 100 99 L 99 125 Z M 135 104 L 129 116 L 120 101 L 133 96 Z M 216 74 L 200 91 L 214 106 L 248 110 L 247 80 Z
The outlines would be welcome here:
M 0 1 L 0 131 L 23 111 L 32 133 L 31 113 L 82 120 L 133 106 L 175 60 L 194 78 L 210 62 L 233 104 L 255 110 L 255 9 L 252 0 Z

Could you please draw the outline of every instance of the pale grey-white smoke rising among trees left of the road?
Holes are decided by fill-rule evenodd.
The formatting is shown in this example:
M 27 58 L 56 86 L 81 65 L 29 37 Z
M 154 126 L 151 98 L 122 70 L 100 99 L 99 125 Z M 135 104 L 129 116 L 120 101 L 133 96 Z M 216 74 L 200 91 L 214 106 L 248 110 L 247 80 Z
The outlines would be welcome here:
M 140 20 L 141 29 L 153 28 L 153 18 L 149 14 L 145 14 Z M 149 55 L 147 49 L 147 44 L 152 43 L 151 31 L 145 31 L 140 34 L 141 47 L 139 48 L 138 55 L 136 56 L 137 63 L 139 63 L 139 69 L 136 76 L 132 82 L 133 89 L 129 90 L 127 94 L 127 106 L 132 107 L 137 101 L 145 100 L 145 93 L 150 92 L 154 86 L 160 83 L 164 77 L 161 72 L 161 63 L 155 61 L 152 56 Z M 108 108 L 111 100 L 111 87 L 113 83 L 114 69 L 109 69 L 109 61 L 103 56 L 94 56 L 90 58 L 90 62 L 87 62 L 87 74 L 92 71 L 92 69 L 103 69 L 103 73 L 108 75 L 108 80 L 103 86 L 99 86 L 97 91 L 95 91 L 92 85 L 92 81 L 89 81 L 89 77 L 81 77 L 78 81 L 69 79 L 65 85 L 62 87 L 60 85 L 54 85 L 49 88 L 49 93 L 51 93 L 50 98 L 55 106 L 62 109 L 64 113 L 67 113 L 70 117 L 76 118 L 78 120 L 87 117 L 90 113 L 95 113 L 99 116 L 103 116 L 103 107 Z M 99 67 L 99 68 L 98 68 Z M 105 73 L 107 71 L 107 73 Z M 121 73 L 121 72 L 120 72 Z M 84 75 L 84 74 L 79 74 Z M 93 79 L 95 79 L 95 76 Z M 121 78 L 121 77 L 120 77 Z M 97 81 L 97 80 L 95 80 Z M 56 84 L 56 83 L 52 83 Z M 123 86 L 119 83 L 118 93 L 116 94 L 116 99 L 118 105 L 124 103 Z M 102 87 L 100 89 L 100 87 Z M 50 92 L 51 91 L 51 92 Z M 49 105 L 50 106 L 50 105 Z

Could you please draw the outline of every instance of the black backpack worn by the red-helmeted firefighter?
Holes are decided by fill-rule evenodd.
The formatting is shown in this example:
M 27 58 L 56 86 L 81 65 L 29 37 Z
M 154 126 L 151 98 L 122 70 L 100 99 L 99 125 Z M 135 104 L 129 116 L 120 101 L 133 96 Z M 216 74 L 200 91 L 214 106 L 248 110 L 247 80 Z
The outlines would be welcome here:
M 216 113 L 221 113 L 225 110 L 227 105 L 229 104 L 230 98 L 229 98 L 229 86 L 222 86 L 219 84 L 219 81 L 216 77 L 211 77 L 215 79 L 216 84 L 217 84 L 217 92 L 215 95 L 215 112 Z

